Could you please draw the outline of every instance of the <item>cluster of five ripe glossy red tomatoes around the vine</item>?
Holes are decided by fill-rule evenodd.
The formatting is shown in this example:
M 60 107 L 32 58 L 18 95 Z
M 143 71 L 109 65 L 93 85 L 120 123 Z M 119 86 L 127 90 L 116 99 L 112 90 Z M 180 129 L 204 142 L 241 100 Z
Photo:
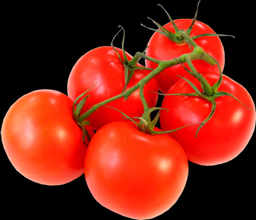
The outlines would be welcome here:
M 187 30 L 192 19 L 174 22 L 179 30 Z M 175 32 L 172 22 L 163 27 Z M 215 32 L 196 21 L 189 36 L 205 33 Z M 224 68 L 222 42 L 218 36 L 202 36 L 194 42 L 219 63 L 210 65 L 200 58 L 192 61 L 213 86 Z M 156 31 L 145 57 L 168 61 L 188 53 L 191 47 L 187 42 L 173 42 Z M 184 63 L 159 72 L 146 82 L 142 93 L 140 88 L 134 89 L 127 97 L 97 106 L 80 120 L 98 103 L 131 91 L 158 67 L 147 58 L 146 68 L 138 62 L 129 65 L 132 59 L 121 48 L 112 46 L 88 51 L 70 72 L 67 95 L 51 89 L 23 95 L 7 111 L 1 137 L 11 164 L 31 181 L 63 185 L 84 174 L 91 194 L 102 206 L 133 219 L 150 219 L 179 199 L 188 178 L 188 162 L 209 166 L 239 155 L 253 135 L 256 113 L 247 90 L 222 75 L 218 88 L 222 96 L 215 97 L 216 110 L 198 131 L 213 103 L 188 95 L 194 94 L 195 88 L 202 93 L 204 89 Z M 125 71 L 133 71 L 127 84 Z M 156 106 L 159 90 L 165 95 L 158 115 L 159 128 L 152 128 L 149 134 L 142 129 L 147 125 L 142 115 L 145 102 L 148 109 Z M 176 128 L 181 129 L 161 133 Z

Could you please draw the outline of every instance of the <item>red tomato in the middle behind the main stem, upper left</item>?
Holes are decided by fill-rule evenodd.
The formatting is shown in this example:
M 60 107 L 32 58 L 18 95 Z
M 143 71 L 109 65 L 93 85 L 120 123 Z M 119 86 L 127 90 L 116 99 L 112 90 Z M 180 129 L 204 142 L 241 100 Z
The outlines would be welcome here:
M 120 56 L 122 50 L 116 48 Z M 128 60 L 131 55 L 126 53 Z M 138 64 L 139 65 L 139 64 Z M 139 65 L 141 66 L 141 65 Z M 90 89 L 97 83 L 88 93 L 90 95 L 86 100 L 86 105 L 81 114 L 91 108 L 91 106 L 100 103 L 103 100 L 119 95 L 125 86 L 124 65 L 119 60 L 117 53 L 112 47 L 97 47 L 85 53 L 71 70 L 68 78 L 68 96 L 75 100 L 79 95 Z M 136 70 L 127 89 L 131 88 L 140 79 L 148 75 L 148 70 Z M 127 90 L 126 89 L 126 90 Z M 156 79 L 151 79 L 144 87 L 144 95 L 149 107 L 154 107 L 157 102 L 158 95 L 152 92 L 158 92 L 158 84 Z M 143 106 L 139 97 L 139 89 L 128 97 L 112 101 L 107 106 L 114 107 L 127 114 L 129 117 L 140 117 L 143 114 Z M 91 125 L 98 130 L 103 125 L 116 120 L 123 120 L 123 115 L 114 109 L 105 106 L 100 107 L 97 111 L 88 117 Z

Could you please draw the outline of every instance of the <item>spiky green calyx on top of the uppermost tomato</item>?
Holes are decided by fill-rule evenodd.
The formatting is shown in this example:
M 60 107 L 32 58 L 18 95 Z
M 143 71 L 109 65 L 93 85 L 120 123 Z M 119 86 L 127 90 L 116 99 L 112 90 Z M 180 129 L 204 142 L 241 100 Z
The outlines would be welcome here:
M 197 14 L 198 14 L 198 8 L 199 8 L 199 3 L 200 1 L 197 3 L 197 8 L 196 8 L 196 13 L 192 19 L 192 22 L 191 22 L 191 25 L 188 27 L 188 29 L 185 31 L 185 30 L 179 30 L 179 28 L 177 27 L 177 25 L 175 24 L 174 20 L 171 18 L 170 14 L 165 10 L 165 8 L 163 6 L 161 6 L 160 4 L 158 4 L 158 6 L 161 6 L 162 9 L 165 11 L 165 13 L 167 14 L 171 24 L 173 25 L 174 27 L 174 31 L 175 33 L 171 32 L 171 31 L 168 31 L 166 28 L 164 28 L 162 25 L 160 25 L 158 22 L 156 22 L 155 20 L 151 19 L 148 17 L 148 19 L 150 19 L 152 22 L 154 22 L 154 24 L 158 27 L 158 29 L 154 29 L 154 28 L 149 28 L 149 27 L 146 27 L 145 25 L 141 24 L 143 27 L 147 28 L 147 29 L 150 29 L 152 31 L 156 31 L 158 33 L 161 33 L 163 34 L 164 36 L 166 36 L 168 39 L 170 39 L 171 41 L 175 42 L 176 45 L 185 45 L 185 44 L 188 44 L 189 47 L 191 47 L 190 43 L 187 42 L 187 39 L 183 36 L 183 34 L 181 33 L 182 31 L 184 31 L 188 36 L 190 35 L 192 29 L 193 29 L 193 25 L 194 23 L 196 22 L 196 17 L 197 17 Z M 199 37 L 202 37 L 202 36 L 231 36 L 234 38 L 234 36 L 232 35 L 226 35 L 226 34 L 217 34 L 217 33 L 204 33 L 204 34 L 200 34 L 200 35 L 197 35 L 197 36 L 192 36 L 191 39 L 196 39 L 196 38 L 199 38 Z M 191 48 L 192 50 L 192 48 Z

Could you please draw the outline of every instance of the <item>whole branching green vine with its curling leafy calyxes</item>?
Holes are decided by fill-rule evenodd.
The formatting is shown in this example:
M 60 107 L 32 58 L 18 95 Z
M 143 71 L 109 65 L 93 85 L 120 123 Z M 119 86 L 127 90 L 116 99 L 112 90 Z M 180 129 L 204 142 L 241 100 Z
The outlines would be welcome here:
M 161 6 L 161 5 L 159 5 L 159 6 Z M 142 114 L 141 117 L 128 117 L 126 114 L 122 113 L 118 109 L 116 109 L 116 110 L 119 111 L 121 114 L 123 114 L 125 119 L 132 120 L 134 123 L 136 123 L 142 132 L 145 132 L 145 133 L 151 134 L 151 135 L 163 134 L 163 133 L 173 132 L 173 131 L 179 130 L 181 128 L 184 128 L 186 126 L 189 126 L 189 125 L 185 125 L 185 126 L 183 126 L 181 128 L 177 128 L 177 129 L 174 129 L 172 131 L 154 131 L 154 126 L 156 125 L 156 122 L 157 122 L 157 120 L 159 118 L 159 112 L 160 112 L 160 110 L 162 108 L 154 107 L 154 108 L 150 109 L 148 107 L 148 103 L 146 102 L 145 96 L 144 96 L 144 93 L 143 93 L 144 86 L 145 86 L 145 84 L 148 83 L 148 81 L 150 81 L 152 78 L 154 78 L 160 72 L 163 72 L 166 68 L 172 67 L 172 66 L 178 65 L 178 64 L 181 64 L 189 74 L 191 74 L 193 77 L 195 77 L 195 78 L 197 78 L 199 80 L 199 82 L 200 82 L 200 84 L 202 86 L 202 91 L 203 92 L 200 92 L 199 89 L 196 88 L 196 86 L 194 86 L 190 81 L 188 81 L 188 79 L 183 78 L 183 77 L 180 76 L 185 81 L 187 81 L 188 84 L 191 85 L 191 87 L 193 88 L 194 92 L 193 93 L 186 93 L 186 94 L 168 94 L 168 95 L 185 95 L 185 96 L 202 97 L 205 100 L 210 101 L 210 103 L 212 104 L 211 111 L 210 111 L 208 117 L 202 123 L 196 123 L 196 124 L 199 124 L 199 127 L 198 127 L 198 129 L 196 131 L 196 136 L 197 136 L 200 128 L 202 128 L 202 126 L 204 126 L 205 123 L 207 123 L 210 120 L 210 118 L 213 116 L 213 114 L 214 114 L 214 112 L 216 110 L 216 101 L 215 101 L 215 99 L 217 97 L 222 96 L 222 95 L 228 95 L 228 96 L 231 96 L 231 97 L 235 98 L 236 100 L 238 100 L 236 97 L 234 97 L 231 94 L 228 94 L 226 92 L 218 91 L 219 86 L 222 83 L 222 71 L 221 71 L 221 68 L 219 66 L 219 63 L 216 61 L 215 58 L 213 58 L 213 57 L 209 56 L 207 53 L 205 53 L 205 51 L 202 49 L 202 47 L 199 47 L 196 44 L 196 42 L 194 42 L 194 40 L 193 40 L 193 39 L 196 39 L 196 38 L 201 37 L 201 36 L 230 36 L 230 35 L 221 35 L 221 34 L 211 34 L 211 33 L 209 33 L 209 34 L 203 34 L 203 35 L 193 36 L 193 37 L 189 36 L 190 33 L 191 33 L 191 30 L 193 28 L 193 24 L 196 21 L 196 16 L 197 16 L 197 13 L 198 13 L 198 6 L 199 6 L 199 3 L 197 5 L 196 13 L 195 13 L 195 16 L 194 16 L 194 18 L 192 20 L 191 26 L 186 31 L 179 30 L 176 27 L 173 19 L 171 19 L 171 16 L 167 13 L 167 11 L 165 11 L 165 13 L 168 15 L 170 21 L 172 22 L 172 24 L 174 26 L 174 29 L 175 29 L 175 33 L 171 33 L 170 31 L 166 30 L 161 25 L 159 25 L 157 22 L 155 22 L 153 19 L 151 19 L 158 26 L 159 29 L 158 30 L 152 29 L 152 28 L 149 28 L 149 29 L 152 29 L 154 31 L 162 33 L 163 35 L 167 36 L 170 40 L 172 40 L 174 42 L 178 42 L 178 43 L 184 42 L 184 43 L 188 44 L 189 47 L 191 48 L 191 53 L 185 53 L 185 54 L 179 56 L 178 58 L 175 58 L 175 59 L 172 59 L 172 60 L 168 60 L 168 61 L 157 60 L 155 58 L 146 56 L 145 55 L 145 50 L 142 53 L 141 52 L 137 52 L 134 55 L 134 57 L 130 61 L 128 61 L 128 58 L 125 55 L 125 49 L 124 49 L 125 30 L 122 28 L 122 26 L 119 25 L 119 28 L 121 28 L 121 29 L 118 31 L 118 33 L 120 31 L 123 31 L 123 39 L 122 39 L 122 53 L 123 53 L 122 56 L 123 56 L 123 59 L 121 58 L 121 55 L 117 52 L 116 48 L 113 45 L 114 39 L 115 39 L 115 37 L 117 36 L 118 33 L 114 36 L 114 38 L 113 38 L 113 40 L 111 42 L 111 46 L 113 47 L 113 50 L 116 51 L 117 56 L 119 57 L 119 60 L 124 65 L 124 69 L 125 69 L 125 72 L 124 72 L 124 74 L 125 74 L 125 86 L 124 86 L 122 92 L 119 95 L 111 97 L 111 98 L 109 98 L 107 100 L 104 100 L 104 101 L 102 101 L 100 103 L 97 103 L 94 106 L 92 106 L 90 109 L 88 109 L 88 111 L 86 111 L 82 115 L 79 115 L 80 114 L 80 109 L 82 108 L 81 106 L 83 106 L 85 104 L 85 101 L 86 101 L 88 96 L 85 96 L 82 99 L 82 101 L 77 105 L 77 109 L 78 110 L 76 110 L 76 111 L 74 110 L 74 117 L 75 117 L 75 120 L 77 121 L 77 123 L 82 127 L 82 129 L 83 129 L 85 134 L 88 134 L 88 132 L 86 133 L 86 131 L 85 131 L 86 129 L 84 128 L 83 125 L 89 123 L 88 121 L 86 121 L 86 119 L 92 113 L 94 113 L 94 111 L 97 111 L 97 109 L 99 109 L 99 108 L 101 108 L 103 106 L 111 108 L 111 107 L 106 106 L 106 105 L 108 103 L 114 101 L 114 100 L 119 99 L 119 98 L 125 98 L 125 100 L 127 100 L 127 98 L 133 92 L 135 92 L 137 89 L 139 89 L 140 98 L 141 98 L 141 101 L 142 101 L 142 104 L 143 104 L 143 107 L 144 107 L 144 114 Z M 142 25 L 142 26 L 144 26 L 144 25 Z M 149 61 L 152 61 L 152 62 L 158 64 L 158 66 L 155 69 L 149 69 L 149 68 L 146 68 L 146 67 L 138 67 L 137 63 L 139 62 L 139 60 L 141 58 L 144 58 L 144 59 L 147 59 Z M 219 80 L 213 86 L 210 86 L 208 81 L 199 72 L 197 72 L 197 70 L 193 66 L 192 61 L 193 60 L 197 60 L 197 59 L 203 60 L 203 61 L 207 62 L 210 65 L 218 65 L 219 72 L 220 72 L 220 77 L 219 77 Z M 188 64 L 188 67 L 190 68 L 190 70 L 183 65 L 184 63 Z M 136 85 L 134 85 L 130 89 L 126 90 L 127 84 L 129 83 L 129 81 L 130 81 L 134 71 L 138 70 L 138 69 L 151 70 L 151 72 L 148 75 L 146 75 L 144 78 L 142 78 Z M 88 91 L 86 91 L 86 92 L 88 92 Z M 86 92 L 83 93 L 82 95 L 80 95 L 78 98 L 80 98 L 83 95 L 85 95 Z M 160 94 L 160 95 L 167 95 L 167 94 L 162 94 L 162 93 L 158 93 L 158 94 Z M 78 98 L 77 98 L 77 100 L 78 100 Z M 112 108 L 112 109 L 114 109 L 114 108 Z M 158 113 L 156 114 L 156 117 L 153 120 L 151 120 L 151 112 L 155 111 L 155 110 L 158 110 Z M 133 120 L 133 118 L 137 118 L 139 120 L 139 123 L 137 123 L 135 120 Z

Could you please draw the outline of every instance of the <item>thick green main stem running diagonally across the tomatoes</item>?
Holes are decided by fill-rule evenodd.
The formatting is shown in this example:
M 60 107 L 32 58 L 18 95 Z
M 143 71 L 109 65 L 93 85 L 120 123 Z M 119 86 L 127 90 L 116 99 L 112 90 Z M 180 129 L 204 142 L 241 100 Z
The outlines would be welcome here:
M 185 37 L 187 37 L 187 36 L 185 36 Z M 189 37 L 187 37 L 187 38 L 190 39 Z M 173 60 L 168 60 L 168 61 L 159 61 L 154 58 L 146 56 L 144 53 L 137 52 L 135 54 L 135 58 L 148 59 L 150 61 L 157 63 L 158 66 L 154 70 L 152 70 L 148 75 L 146 75 L 144 78 L 142 78 L 136 85 L 131 87 L 130 89 L 120 93 L 119 95 L 116 95 L 114 97 L 106 99 L 106 100 L 92 106 L 91 109 L 88 109 L 88 111 L 86 111 L 84 114 L 82 114 L 81 116 L 78 117 L 78 119 L 77 119 L 78 122 L 81 123 L 83 120 L 85 120 L 87 117 L 89 117 L 92 113 L 94 113 L 94 111 L 97 111 L 97 109 L 99 109 L 101 106 L 106 105 L 106 104 L 110 103 L 111 101 L 117 100 L 119 98 L 125 98 L 125 100 L 127 100 L 127 98 L 133 92 L 135 92 L 137 89 L 140 89 L 140 96 L 141 96 L 142 104 L 144 107 L 144 111 L 146 111 L 146 110 L 148 110 L 148 104 L 146 103 L 146 100 L 145 100 L 145 97 L 143 94 L 143 88 L 144 88 L 145 84 L 147 84 L 148 81 L 150 81 L 159 72 L 162 72 L 163 70 L 165 70 L 168 67 L 171 67 L 171 66 L 174 66 L 174 65 L 177 65 L 180 63 L 186 63 L 188 60 L 193 61 L 196 59 L 201 59 L 201 60 L 208 62 L 211 65 L 216 64 L 216 61 L 214 61 L 213 58 L 208 56 L 207 53 L 205 53 L 205 51 L 201 47 L 197 46 L 195 42 L 193 42 L 193 47 L 194 47 L 194 49 L 191 53 L 182 54 L 181 56 L 179 56 L 179 58 L 175 58 Z

